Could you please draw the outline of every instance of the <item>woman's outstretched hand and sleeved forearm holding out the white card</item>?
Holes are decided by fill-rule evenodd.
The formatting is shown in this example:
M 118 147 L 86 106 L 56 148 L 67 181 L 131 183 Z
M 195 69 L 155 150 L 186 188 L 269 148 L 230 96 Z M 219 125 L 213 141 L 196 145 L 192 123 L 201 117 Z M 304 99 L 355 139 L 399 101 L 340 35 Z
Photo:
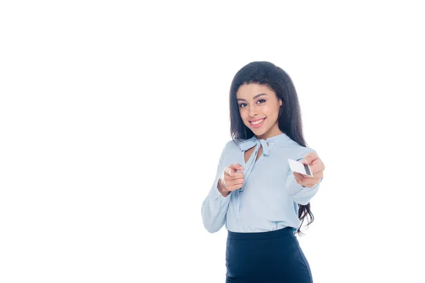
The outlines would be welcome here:
M 319 184 L 323 180 L 324 163 L 317 156 L 316 151 L 312 151 L 300 159 L 298 161 L 310 165 L 314 177 L 293 172 L 288 175 L 286 180 L 286 190 L 294 202 L 305 205 L 310 202 L 319 189 Z

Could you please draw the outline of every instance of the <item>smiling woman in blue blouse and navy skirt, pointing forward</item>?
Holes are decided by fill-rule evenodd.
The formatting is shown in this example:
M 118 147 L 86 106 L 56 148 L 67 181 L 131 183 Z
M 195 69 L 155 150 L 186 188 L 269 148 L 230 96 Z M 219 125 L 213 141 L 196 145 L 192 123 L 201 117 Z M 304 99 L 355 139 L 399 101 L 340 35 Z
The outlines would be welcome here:
M 300 105 L 288 74 L 251 62 L 234 76 L 230 132 L 202 204 L 205 229 L 227 229 L 226 282 L 312 282 L 295 233 L 314 217 L 310 200 L 324 164 L 302 137 Z M 290 171 L 288 158 L 314 177 Z

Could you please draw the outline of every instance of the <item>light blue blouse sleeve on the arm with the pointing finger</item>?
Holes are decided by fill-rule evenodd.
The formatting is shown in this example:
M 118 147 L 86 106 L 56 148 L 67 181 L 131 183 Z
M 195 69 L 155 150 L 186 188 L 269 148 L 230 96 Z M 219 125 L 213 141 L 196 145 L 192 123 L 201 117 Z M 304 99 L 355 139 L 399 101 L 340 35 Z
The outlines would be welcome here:
M 217 188 L 218 181 L 220 180 L 222 175 L 222 171 L 224 171 L 226 167 L 225 157 L 227 145 L 228 143 L 222 150 L 220 160 L 218 161 L 214 182 L 212 183 L 210 191 L 208 192 L 207 197 L 205 197 L 201 208 L 203 225 L 205 226 L 205 229 L 207 229 L 207 231 L 210 233 L 215 233 L 219 231 L 225 224 L 227 207 L 229 206 L 230 197 L 232 195 L 232 192 L 230 192 L 227 197 L 223 197 L 223 195 Z

